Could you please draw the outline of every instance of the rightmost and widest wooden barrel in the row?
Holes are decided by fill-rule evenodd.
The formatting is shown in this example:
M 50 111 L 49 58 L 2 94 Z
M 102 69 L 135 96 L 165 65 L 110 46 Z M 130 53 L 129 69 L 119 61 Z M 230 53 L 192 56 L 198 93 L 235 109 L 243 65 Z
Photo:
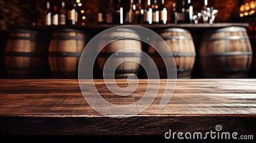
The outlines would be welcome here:
M 244 27 L 225 27 L 206 33 L 199 54 L 203 77 L 248 77 L 252 46 Z

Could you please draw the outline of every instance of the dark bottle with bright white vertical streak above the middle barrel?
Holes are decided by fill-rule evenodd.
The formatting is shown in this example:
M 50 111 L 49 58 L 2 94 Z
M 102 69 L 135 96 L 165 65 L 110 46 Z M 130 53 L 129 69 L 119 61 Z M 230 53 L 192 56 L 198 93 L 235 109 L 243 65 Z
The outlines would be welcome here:
M 118 4 L 113 12 L 113 23 L 124 24 L 124 8 L 121 5 L 121 0 L 118 0 Z

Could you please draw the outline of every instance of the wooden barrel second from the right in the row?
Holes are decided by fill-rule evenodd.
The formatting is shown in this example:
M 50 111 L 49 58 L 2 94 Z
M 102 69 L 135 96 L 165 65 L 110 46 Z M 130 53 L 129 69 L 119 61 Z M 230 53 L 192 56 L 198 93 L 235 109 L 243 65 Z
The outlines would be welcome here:
M 195 45 L 189 31 L 180 28 L 170 28 L 159 32 L 159 35 L 166 41 L 177 66 L 177 78 L 189 79 L 195 63 Z M 157 42 L 157 41 L 156 41 Z M 163 59 L 156 56 L 156 50 L 148 47 L 148 54 L 152 57 L 159 70 L 159 76 L 166 78 L 166 66 Z

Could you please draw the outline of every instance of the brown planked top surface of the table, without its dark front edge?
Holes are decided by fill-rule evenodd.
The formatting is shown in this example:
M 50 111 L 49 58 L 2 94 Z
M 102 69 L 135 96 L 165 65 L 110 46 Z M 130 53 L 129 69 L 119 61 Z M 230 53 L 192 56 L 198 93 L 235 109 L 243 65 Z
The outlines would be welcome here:
M 187 81 L 187 82 L 186 82 Z M 244 82 L 246 81 L 246 82 Z M 118 83 L 125 83 L 117 80 Z M 102 97 L 116 105 L 138 101 L 147 89 L 147 80 L 130 96 L 117 96 L 102 87 Z M 162 80 L 164 82 L 164 80 Z M 1 114 L 95 114 L 86 103 L 77 80 L 3 80 L 0 85 Z M 162 84 L 163 85 L 163 84 Z M 90 87 L 90 86 L 88 86 Z M 240 88 L 241 87 L 241 88 Z M 157 90 L 157 88 L 156 88 Z M 153 110 L 146 114 L 255 114 L 255 80 L 178 80 L 172 100 L 163 110 L 159 102 L 164 86 L 159 89 Z M 98 115 L 98 114 L 97 114 Z

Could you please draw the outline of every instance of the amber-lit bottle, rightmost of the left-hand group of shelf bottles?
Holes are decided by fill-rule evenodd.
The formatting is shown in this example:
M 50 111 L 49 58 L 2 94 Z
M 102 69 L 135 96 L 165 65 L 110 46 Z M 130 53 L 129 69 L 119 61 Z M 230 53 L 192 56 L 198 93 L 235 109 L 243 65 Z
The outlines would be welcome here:
M 77 4 L 71 0 L 70 8 L 68 9 L 67 24 L 76 26 L 78 21 Z

